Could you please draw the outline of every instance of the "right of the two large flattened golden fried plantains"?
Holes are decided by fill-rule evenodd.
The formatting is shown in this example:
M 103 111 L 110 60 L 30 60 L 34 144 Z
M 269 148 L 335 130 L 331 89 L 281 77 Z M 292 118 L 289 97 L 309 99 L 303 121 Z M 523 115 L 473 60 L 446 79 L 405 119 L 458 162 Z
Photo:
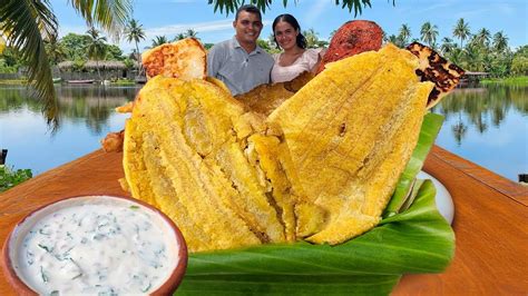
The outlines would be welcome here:
M 278 158 L 291 159 L 292 186 L 302 187 L 302 203 L 323 209 L 299 210 L 297 224 L 309 224 L 300 229 L 322 229 L 309 241 L 340 244 L 379 223 L 433 87 L 417 68 L 412 53 L 388 45 L 329 65 L 271 114 L 287 145 Z

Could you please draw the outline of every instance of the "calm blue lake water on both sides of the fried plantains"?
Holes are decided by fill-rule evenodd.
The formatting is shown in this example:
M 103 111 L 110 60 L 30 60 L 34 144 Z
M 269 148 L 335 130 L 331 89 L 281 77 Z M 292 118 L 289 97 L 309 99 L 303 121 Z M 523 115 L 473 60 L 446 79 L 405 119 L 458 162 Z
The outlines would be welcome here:
M 0 86 L 0 148 L 7 165 L 35 175 L 100 148 L 99 140 L 124 128 L 129 115 L 114 108 L 138 87 L 58 86 L 60 126 L 48 130 L 40 105 L 19 86 Z M 528 88 L 457 89 L 433 108 L 446 121 L 437 144 L 517 181 L 528 172 Z

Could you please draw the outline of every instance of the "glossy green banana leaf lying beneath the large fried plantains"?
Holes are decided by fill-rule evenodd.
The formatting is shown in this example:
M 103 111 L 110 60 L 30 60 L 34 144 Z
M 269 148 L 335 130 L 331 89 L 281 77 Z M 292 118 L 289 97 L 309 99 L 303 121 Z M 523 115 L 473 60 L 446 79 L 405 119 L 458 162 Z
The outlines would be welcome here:
M 437 119 L 427 116 L 422 132 L 441 125 Z M 420 141 L 429 150 L 434 137 Z M 420 162 L 426 156 L 413 154 Z M 338 246 L 301 241 L 192 254 L 176 295 L 387 295 L 402 274 L 439 273 L 453 257 L 454 234 L 434 195 L 423 181 L 407 210 Z

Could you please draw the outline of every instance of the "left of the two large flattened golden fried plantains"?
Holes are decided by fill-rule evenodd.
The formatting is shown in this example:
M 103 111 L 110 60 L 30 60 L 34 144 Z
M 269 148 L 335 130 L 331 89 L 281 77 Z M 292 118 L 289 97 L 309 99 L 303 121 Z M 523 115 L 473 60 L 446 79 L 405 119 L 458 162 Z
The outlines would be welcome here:
M 141 89 L 127 121 L 124 168 L 133 196 L 173 218 L 192 251 L 286 240 L 244 154 L 238 135 L 254 130 L 243 114 L 205 80 L 158 76 Z

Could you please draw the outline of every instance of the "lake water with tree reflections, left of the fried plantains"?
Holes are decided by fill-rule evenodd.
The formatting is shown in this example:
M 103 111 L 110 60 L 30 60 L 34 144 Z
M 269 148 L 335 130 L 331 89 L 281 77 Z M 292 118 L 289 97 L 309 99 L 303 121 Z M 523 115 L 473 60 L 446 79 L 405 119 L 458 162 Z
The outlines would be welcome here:
M 7 164 L 38 175 L 98 149 L 107 132 L 124 128 L 128 115 L 115 108 L 133 100 L 138 89 L 57 87 L 59 125 L 51 132 L 30 90 L 0 86 L 0 148 L 9 149 Z

